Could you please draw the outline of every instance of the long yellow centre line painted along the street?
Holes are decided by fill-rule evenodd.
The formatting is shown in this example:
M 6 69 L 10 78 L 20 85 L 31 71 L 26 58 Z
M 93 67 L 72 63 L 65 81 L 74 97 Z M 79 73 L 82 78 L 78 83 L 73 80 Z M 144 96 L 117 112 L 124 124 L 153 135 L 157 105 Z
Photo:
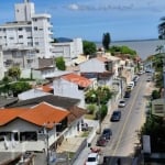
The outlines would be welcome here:
M 142 81 L 141 81 L 140 85 L 142 85 Z M 119 144 L 120 144 L 120 142 L 121 142 L 121 139 L 122 139 L 122 136 L 123 136 L 123 132 L 124 132 L 124 130 L 125 130 L 125 125 L 128 124 L 130 114 L 131 114 L 131 112 L 132 112 L 133 105 L 134 105 L 134 102 L 135 102 L 135 100 L 136 100 L 138 95 L 140 94 L 140 90 L 139 90 L 140 87 L 141 87 L 141 86 L 139 86 L 138 92 L 135 94 L 135 97 L 134 97 L 134 99 L 133 99 L 133 101 L 132 101 L 132 105 L 130 106 L 129 114 L 128 114 L 128 117 L 127 117 L 127 119 L 125 119 L 125 122 L 123 123 L 123 128 L 122 128 L 122 130 L 121 130 L 121 133 L 120 133 L 119 140 L 118 140 L 118 142 L 117 142 L 117 145 L 116 145 L 116 147 L 114 147 L 114 150 L 113 150 L 112 156 L 114 156 L 114 154 L 117 153 L 117 150 L 118 150 Z M 110 161 L 110 164 L 111 164 L 111 161 Z

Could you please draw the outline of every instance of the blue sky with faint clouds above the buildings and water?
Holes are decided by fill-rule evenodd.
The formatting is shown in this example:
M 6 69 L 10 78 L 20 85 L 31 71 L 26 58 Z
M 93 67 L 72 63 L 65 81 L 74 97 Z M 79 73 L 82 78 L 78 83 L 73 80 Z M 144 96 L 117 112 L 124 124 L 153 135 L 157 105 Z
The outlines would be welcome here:
M 157 38 L 157 25 L 165 16 L 165 0 L 30 0 L 36 13 L 52 15 L 54 37 L 102 41 Z M 14 3 L 0 4 L 0 24 L 14 21 Z

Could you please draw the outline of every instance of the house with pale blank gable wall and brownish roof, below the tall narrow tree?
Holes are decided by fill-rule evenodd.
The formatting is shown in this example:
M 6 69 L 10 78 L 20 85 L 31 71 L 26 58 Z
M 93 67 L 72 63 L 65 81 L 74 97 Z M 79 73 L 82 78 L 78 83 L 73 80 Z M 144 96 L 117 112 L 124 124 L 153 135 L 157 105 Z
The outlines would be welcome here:
M 99 85 L 111 86 L 114 68 L 113 62 L 107 57 L 91 58 L 79 65 L 81 76 L 96 78 Z

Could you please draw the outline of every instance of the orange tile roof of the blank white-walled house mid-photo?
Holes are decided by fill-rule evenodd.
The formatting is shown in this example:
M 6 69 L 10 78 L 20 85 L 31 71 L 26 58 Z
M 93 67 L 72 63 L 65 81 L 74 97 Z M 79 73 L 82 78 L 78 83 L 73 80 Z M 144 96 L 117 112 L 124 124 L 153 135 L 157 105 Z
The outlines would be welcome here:
M 77 84 L 79 87 L 85 87 L 85 88 L 90 86 L 92 82 L 88 78 L 79 76 L 77 74 L 68 74 L 68 75 L 63 76 L 62 78 L 70 82 Z

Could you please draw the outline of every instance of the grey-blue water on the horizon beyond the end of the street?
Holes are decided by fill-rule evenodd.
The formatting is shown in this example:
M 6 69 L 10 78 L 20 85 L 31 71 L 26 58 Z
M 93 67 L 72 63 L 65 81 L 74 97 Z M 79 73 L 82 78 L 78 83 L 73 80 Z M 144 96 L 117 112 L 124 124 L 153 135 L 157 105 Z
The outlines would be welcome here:
M 154 55 L 158 52 L 156 52 L 156 47 L 160 45 L 164 45 L 165 41 L 161 40 L 140 40 L 140 41 L 119 41 L 119 42 L 112 42 L 110 46 L 117 45 L 117 46 L 128 46 L 134 51 L 136 51 L 138 55 L 144 61 L 150 55 Z M 101 43 L 97 44 L 101 45 Z

